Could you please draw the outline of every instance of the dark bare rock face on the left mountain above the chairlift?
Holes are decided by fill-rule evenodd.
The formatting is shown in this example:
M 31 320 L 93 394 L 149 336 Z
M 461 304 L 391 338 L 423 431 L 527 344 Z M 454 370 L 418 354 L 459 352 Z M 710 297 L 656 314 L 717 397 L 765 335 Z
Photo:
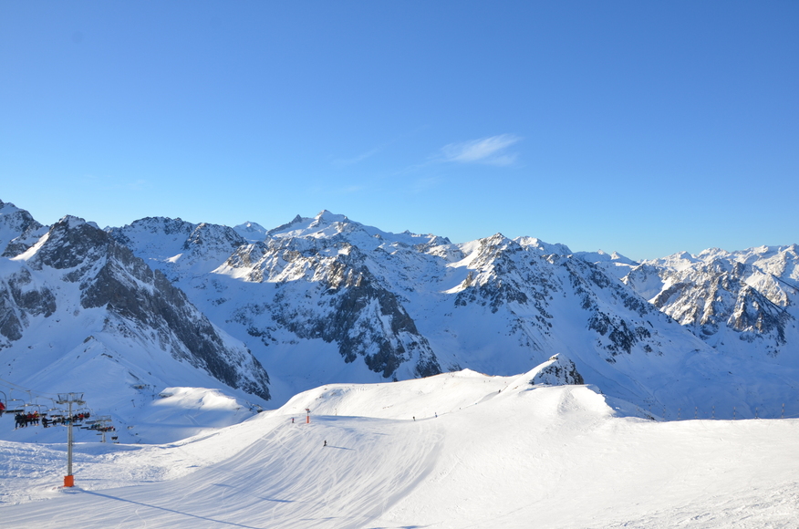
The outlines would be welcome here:
M 233 388 L 269 399 L 268 375 L 258 361 L 243 347 L 226 343 L 180 289 L 109 233 L 65 217 L 50 228 L 28 265 L 34 270 L 64 271 L 63 280 L 79 284 L 80 305 L 105 308 L 109 321 L 116 322 L 121 332 L 154 332 L 161 348 L 174 358 L 204 369 Z M 10 339 L 21 337 L 26 314 L 47 317 L 55 310 L 55 298 L 47 288 L 22 288 L 29 276 L 22 268 L 0 290 L 0 332 Z

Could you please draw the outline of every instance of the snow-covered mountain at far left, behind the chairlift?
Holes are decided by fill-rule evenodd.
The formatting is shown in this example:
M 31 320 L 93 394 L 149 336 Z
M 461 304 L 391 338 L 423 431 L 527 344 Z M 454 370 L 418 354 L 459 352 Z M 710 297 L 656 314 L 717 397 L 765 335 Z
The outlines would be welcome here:
M 244 344 L 128 247 L 67 216 L 13 251 L 33 225 L 17 224 L 16 237 L 10 230 L 0 258 L 0 378 L 51 394 L 83 391 L 107 410 L 176 386 L 269 399 L 266 371 Z

